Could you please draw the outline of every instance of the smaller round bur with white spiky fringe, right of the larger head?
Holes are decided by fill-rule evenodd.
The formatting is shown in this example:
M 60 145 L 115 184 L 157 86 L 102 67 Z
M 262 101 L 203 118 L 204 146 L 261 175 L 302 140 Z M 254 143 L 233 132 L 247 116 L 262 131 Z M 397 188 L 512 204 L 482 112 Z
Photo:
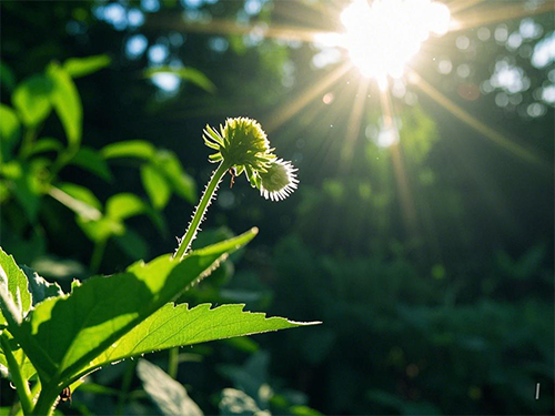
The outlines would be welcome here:
M 286 199 L 299 184 L 296 171 L 291 162 L 283 159 L 273 161 L 265 172 L 260 173 L 260 194 L 272 201 Z

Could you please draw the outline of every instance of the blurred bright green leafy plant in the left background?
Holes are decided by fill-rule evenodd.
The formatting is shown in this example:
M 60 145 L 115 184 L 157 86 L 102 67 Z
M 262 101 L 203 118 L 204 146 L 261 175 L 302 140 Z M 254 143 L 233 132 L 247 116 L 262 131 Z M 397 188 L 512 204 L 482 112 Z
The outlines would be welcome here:
M 74 79 L 109 64 L 105 55 L 69 59 L 61 64 L 53 61 L 42 73 L 16 84 L 14 75 L 0 62 L 0 72 L 12 80 L 4 81 L 12 106 L 0 103 L 0 240 L 22 262 L 46 254 L 47 235 L 56 239 L 51 234 L 58 231 L 59 240 L 64 240 L 65 209 L 75 214 L 78 226 L 93 243 L 90 257 L 84 258 L 92 273 L 100 268 L 109 241 L 131 260 L 142 258 L 148 244 L 128 220 L 147 215 L 165 234 L 161 212 L 172 193 L 190 203 L 196 199 L 192 177 L 171 151 L 141 140 L 114 142 L 101 150 L 83 145 L 83 109 Z M 54 113 L 65 141 L 56 138 L 60 129 L 51 116 Z M 102 204 L 93 191 L 74 180 L 79 175 L 65 174 L 78 168 L 110 183 L 110 164 L 122 159 L 140 165 L 149 202 L 124 192 Z

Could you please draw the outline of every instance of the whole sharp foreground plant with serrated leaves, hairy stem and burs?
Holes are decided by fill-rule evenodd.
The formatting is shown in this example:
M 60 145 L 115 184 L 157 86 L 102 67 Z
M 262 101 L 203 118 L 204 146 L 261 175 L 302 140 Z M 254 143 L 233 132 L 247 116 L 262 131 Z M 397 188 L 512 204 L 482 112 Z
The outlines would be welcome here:
M 77 388 L 84 375 L 110 363 L 159 349 L 306 325 L 244 312 L 242 304 L 190 308 L 172 302 L 258 232 L 252 229 L 234 239 L 189 250 L 228 171 L 233 175 L 245 171 L 263 194 L 264 190 L 289 194 L 296 186 L 294 170 L 275 160 L 255 121 L 229 119 L 221 131 L 219 135 L 206 128 L 213 139 L 205 138 L 206 144 L 213 149 L 220 145 L 211 160 L 221 163 L 175 255 L 140 261 L 122 273 L 97 276 L 83 284 L 75 281 L 71 293 L 64 294 L 0 251 L 0 364 L 10 373 L 23 415 L 50 415 L 62 392 L 67 395 L 67 388 Z M 122 210 L 132 207 L 133 203 L 122 202 Z

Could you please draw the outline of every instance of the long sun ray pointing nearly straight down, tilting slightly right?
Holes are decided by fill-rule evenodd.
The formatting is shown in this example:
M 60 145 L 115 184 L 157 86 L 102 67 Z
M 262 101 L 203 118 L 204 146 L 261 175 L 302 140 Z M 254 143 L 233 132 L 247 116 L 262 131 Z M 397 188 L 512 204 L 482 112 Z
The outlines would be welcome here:
M 395 125 L 393 118 L 394 114 L 393 114 L 393 108 L 391 103 L 389 89 L 380 89 L 380 103 L 382 105 L 383 129 L 395 131 L 398 135 L 398 130 L 397 126 Z M 398 140 L 393 142 L 393 144 L 390 146 L 390 151 L 393 163 L 393 173 L 395 175 L 395 182 L 397 183 L 397 189 L 398 189 L 398 197 L 403 213 L 403 222 L 405 224 L 407 233 L 411 235 L 415 235 L 416 210 L 414 206 L 414 200 L 411 193 L 411 187 L 408 185 L 408 179 L 406 177 L 405 166 L 403 164 L 403 155 L 401 154 Z

